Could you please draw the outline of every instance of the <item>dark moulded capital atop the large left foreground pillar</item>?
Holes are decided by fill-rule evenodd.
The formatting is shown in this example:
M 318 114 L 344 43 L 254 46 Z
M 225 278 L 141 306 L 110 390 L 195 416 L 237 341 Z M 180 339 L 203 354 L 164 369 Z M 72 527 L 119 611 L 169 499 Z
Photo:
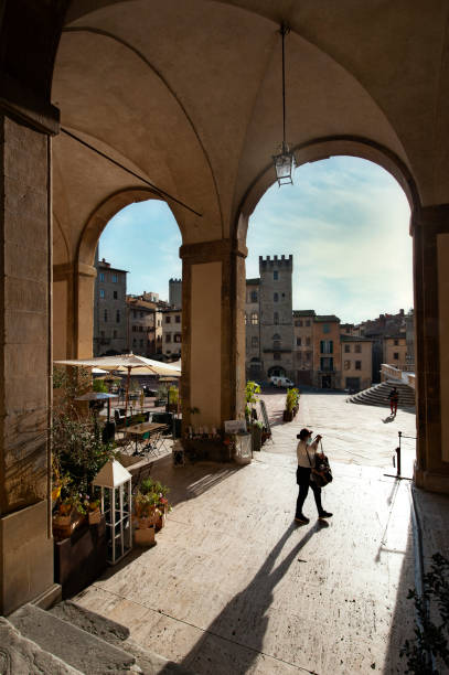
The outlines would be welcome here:
M 35 131 L 56 136 L 60 110 L 6 73 L 0 73 L 0 110 Z

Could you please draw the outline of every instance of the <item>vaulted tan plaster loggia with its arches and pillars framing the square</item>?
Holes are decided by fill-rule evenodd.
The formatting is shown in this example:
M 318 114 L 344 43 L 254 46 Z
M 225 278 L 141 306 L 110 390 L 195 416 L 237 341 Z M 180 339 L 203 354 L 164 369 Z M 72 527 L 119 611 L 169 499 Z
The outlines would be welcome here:
M 141 188 L 57 136 L 60 122 L 201 213 L 174 210 L 190 368 L 183 398 L 202 408 L 202 422 L 220 426 L 244 408 L 245 235 L 280 140 L 281 20 L 291 26 L 288 140 L 301 161 L 352 153 L 362 139 L 367 159 L 383 147 L 383 161 L 399 158 L 415 179 L 416 476 L 449 492 L 448 8 L 409 3 L 406 21 L 402 3 L 384 15 L 370 0 L 357 12 L 345 0 L 190 0 L 183 12 L 171 0 L 49 0 L 36 8 L 9 1 L 0 15 L 3 612 L 52 582 L 52 199 L 61 231 L 54 262 L 84 275 L 88 287 L 88 268 L 73 267 L 85 223 L 111 194 Z M 212 308 L 207 320 L 204 307 Z M 73 325 L 61 340 L 75 354 Z M 23 544 L 4 557 L 11 523 Z M 40 579 L 33 567 L 43 570 Z

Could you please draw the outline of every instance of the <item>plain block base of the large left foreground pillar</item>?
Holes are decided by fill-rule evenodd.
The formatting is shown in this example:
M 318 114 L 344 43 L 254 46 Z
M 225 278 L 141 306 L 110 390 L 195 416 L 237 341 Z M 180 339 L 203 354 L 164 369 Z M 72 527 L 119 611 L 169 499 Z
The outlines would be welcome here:
M 47 536 L 46 502 L 0 518 L 0 575 L 3 615 L 47 593 L 52 597 L 53 539 Z

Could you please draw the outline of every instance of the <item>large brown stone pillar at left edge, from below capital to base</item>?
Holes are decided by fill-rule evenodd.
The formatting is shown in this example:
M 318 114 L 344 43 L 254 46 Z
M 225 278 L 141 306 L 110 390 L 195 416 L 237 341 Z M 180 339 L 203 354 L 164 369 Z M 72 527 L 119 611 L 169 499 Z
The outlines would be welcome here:
M 23 113 L 21 115 L 23 120 Z M 0 113 L 0 612 L 54 590 L 51 140 Z

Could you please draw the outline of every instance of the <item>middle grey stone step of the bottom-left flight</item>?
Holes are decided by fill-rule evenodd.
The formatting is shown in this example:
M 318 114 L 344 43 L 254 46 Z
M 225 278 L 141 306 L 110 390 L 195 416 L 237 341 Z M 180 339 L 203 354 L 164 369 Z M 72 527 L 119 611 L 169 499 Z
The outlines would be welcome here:
M 8 619 L 22 636 L 86 675 L 141 672 L 132 654 L 33 604 L 24 604 Z

